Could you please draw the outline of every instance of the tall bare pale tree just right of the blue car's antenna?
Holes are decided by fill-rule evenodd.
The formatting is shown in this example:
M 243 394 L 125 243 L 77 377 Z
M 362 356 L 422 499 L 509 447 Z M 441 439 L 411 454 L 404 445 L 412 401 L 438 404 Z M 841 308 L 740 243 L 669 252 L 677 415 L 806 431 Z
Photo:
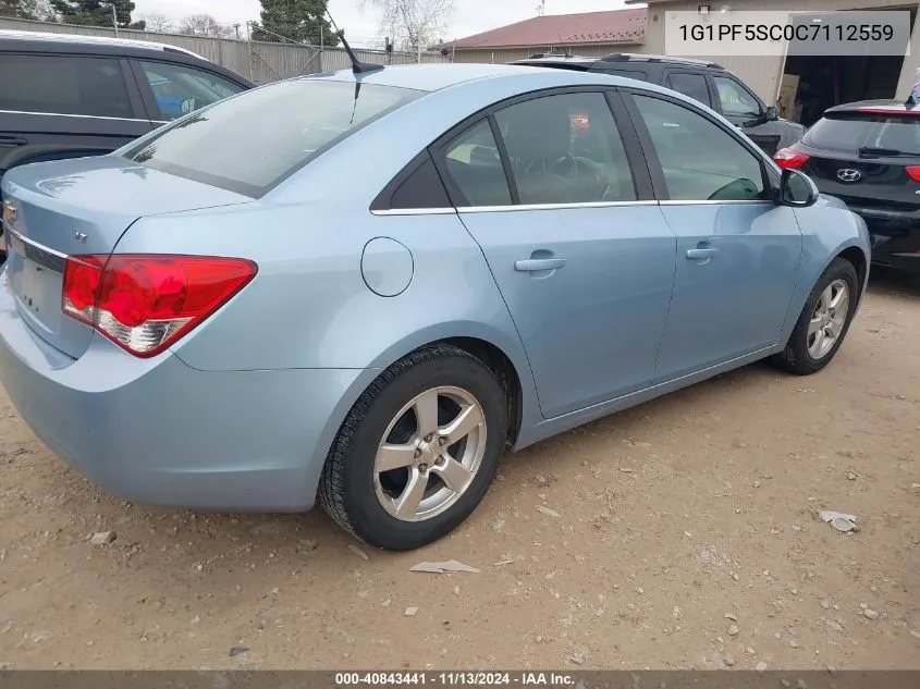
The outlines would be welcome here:
M 446 34 L 455 0 L 358 0 L 380 12 L 380 30 L 404 50 L 426 49 Z

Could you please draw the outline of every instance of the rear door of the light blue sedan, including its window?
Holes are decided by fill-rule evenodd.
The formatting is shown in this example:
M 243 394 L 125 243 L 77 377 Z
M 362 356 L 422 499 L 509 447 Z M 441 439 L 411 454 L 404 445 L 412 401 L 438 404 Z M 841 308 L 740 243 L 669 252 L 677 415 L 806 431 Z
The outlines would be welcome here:
M 635 135 L 612 113 L 622 102 L 608 98 L 533 94 L 432 149 L 547 418 L 648 385 L 671 302 L 676 238 Z

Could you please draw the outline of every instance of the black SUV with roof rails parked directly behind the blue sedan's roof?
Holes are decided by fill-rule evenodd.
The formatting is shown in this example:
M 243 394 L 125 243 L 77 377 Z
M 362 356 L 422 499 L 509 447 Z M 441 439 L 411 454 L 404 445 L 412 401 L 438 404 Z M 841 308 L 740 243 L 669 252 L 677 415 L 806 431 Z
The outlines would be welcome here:
M 618 52 L 605 58 L 536 54 L 514 64 L 601 72 L 650 82 L 694 98 L 739 127 L 772 156 L 805 133 L 795 122 L 781 120 L 741 79 L 714 62 Z

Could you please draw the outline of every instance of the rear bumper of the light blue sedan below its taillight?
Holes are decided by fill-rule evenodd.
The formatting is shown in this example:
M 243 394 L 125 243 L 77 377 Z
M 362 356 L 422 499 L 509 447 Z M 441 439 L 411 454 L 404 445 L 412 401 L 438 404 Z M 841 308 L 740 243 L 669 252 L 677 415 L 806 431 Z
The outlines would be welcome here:
M 73 360 L 0 287 L 0 380 L 25 422 L 103 490 L 197 509 L 300 512 L 346 395 L 367 371 L 204 372 L 135 359 L 101 336 Z

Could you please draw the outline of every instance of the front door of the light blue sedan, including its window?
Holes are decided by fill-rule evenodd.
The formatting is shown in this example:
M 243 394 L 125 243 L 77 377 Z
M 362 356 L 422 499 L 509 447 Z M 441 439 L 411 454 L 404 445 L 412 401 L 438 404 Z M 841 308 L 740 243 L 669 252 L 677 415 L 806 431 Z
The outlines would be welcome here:
M 677 234 L 658 376 L 671 380 L 772 346 L 792 304 L 802 239 L 793 209 L 775 204 L 763 156 L 687 102 L 641 91 L 626 98 Z

